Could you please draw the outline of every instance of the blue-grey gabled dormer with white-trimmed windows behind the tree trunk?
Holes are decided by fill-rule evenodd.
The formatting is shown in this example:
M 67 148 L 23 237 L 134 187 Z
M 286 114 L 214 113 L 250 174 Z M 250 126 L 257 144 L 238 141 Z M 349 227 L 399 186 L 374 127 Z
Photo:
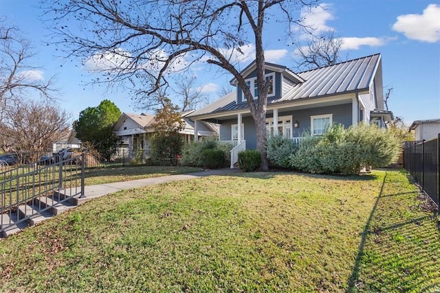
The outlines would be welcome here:
M 245 69 L 241 71 L 241 75 L 243 75 L 245 78 L 248 89 L 250 89 L 254 99 L 256 99 L 258 97 L 258 87 L 256 84 L 256 62 L 254 61 L 245 67 Z M 295 84 L 305 82 L 303 78 L 300 78 L 287 67 L 268 62 L 265 62 L 265 78 L 272 83 L 272 88 L 267 94 L 268 99 L 281 98 L 283 97 L 283 94 L 292 89 Z M 236 103 L 245 103 L 246 99 L 241 86 L 239 86 L 236 79 L 233 78 L 230 80 L 230 84 L 232 86 L 236 86 Z

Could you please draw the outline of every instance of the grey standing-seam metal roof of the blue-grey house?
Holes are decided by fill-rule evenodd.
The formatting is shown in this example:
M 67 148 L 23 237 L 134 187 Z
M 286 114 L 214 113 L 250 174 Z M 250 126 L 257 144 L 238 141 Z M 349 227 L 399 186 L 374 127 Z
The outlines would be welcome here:
M 375 54 L 296 73 L 305 82 L 296 84 L 281 98 L 268 99 L 267 104 L 367 90 L 373 81 L 380 60 L 380 54 Z M 188 117 L 248 108 L 247 103 L 236 104 L 235 101 L 236 91 L 191 113 Z

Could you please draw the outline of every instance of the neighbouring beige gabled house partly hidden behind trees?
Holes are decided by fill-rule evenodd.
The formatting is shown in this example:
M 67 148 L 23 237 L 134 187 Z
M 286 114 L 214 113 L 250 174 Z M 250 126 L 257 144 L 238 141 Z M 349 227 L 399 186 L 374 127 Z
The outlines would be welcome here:
M 194 141 L 194 122 L 188 118 L 188 115 L 194 110 L 180 113 L 182 119 L 185 122 L 184 129 L 180 130 L 180 134 L 184 141 Z M 151 137 L 154 133 L 152 124 L 154 123 L 154 115 L 150 114 L 133 114 L 122 113 L 121 117 L 116 122 L 113 129 L 117 137 L 122 140 L 121 147 L 130 151 L 137 150 L 150 150 Z M 214 124 L 203 122 L 199 123 L 199 129 L 197 130 L 197 139 L 202 137 L 218 136 L 218 127 Z

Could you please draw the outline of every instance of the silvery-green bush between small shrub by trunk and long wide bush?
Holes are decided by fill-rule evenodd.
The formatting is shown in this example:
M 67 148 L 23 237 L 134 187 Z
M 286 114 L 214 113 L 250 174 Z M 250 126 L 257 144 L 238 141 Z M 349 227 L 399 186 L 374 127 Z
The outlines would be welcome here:
M 267 138 L 267 159 L 274 167 L 291 167 L 289 156 L 298 150 L 298 145 L 292 139 L 282 135 L 274 135 Z

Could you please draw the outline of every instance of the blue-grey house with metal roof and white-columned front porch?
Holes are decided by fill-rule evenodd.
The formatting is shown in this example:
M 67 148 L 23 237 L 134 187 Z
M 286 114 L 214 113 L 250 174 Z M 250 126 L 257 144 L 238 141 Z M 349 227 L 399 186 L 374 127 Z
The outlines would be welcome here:
M 241 74 L 254 97 L 256 64 Z M 364 123 L 386 127 L 393 113 L 384 110 L 382 58 L 366 56 L 336 65 L 294 73 L 283 65 L 265 63 L 265 78 L 272 83 L 267 97 L 266 126 L 269 134 L 282 134 L 298 141 L 304 132 L 319 135 L 334 123 L 345 127 Z M 195 121 L 220 124 L 219 139 L 231 141 L 234 152 L 256 149 L 256 130 L 248 104 L 235 79 L 236 90 L 188 117 Z

